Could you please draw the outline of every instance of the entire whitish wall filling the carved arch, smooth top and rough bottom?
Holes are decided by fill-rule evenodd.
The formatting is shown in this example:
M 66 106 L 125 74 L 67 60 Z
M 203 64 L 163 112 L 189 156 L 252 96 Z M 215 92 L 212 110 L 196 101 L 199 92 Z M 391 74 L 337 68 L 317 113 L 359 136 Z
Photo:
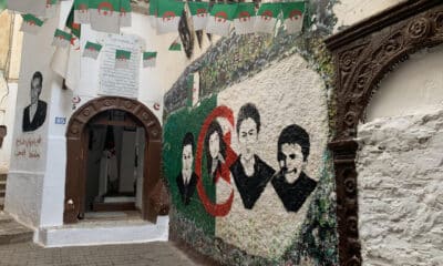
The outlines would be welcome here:
M 387 75 L 358 131 L 363 265 L 443 265 L 443 45 Z

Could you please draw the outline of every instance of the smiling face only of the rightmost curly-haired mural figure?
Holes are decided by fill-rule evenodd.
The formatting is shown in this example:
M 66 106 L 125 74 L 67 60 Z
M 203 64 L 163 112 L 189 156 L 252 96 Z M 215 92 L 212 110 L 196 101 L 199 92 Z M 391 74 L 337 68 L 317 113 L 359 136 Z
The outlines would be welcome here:
M 286 174 L 287 182 L 292 184 L 305 166 L 301 146 L 297 143 L 285 143 L 281 145 L 281 154 L 284 158 L 279 162 L 281 171 Z

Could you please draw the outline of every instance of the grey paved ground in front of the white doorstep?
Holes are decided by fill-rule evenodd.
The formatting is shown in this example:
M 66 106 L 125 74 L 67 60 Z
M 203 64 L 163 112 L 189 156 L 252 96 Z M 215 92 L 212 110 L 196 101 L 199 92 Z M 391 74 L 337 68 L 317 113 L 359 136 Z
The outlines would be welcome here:
M 43 248 L 32 243 L 0 245 L 1 266 L 190 266 L 172 243 Z

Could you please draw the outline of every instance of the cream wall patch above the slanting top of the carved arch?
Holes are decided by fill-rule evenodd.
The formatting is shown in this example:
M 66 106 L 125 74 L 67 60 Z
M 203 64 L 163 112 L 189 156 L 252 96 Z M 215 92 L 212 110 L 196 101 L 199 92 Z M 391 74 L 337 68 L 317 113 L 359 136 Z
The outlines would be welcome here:
M 338 32 L 390 7 L 405 1 L 408 0 L 340 0 L 332 9 L 337 17 L 337 23 L 333 31 Z

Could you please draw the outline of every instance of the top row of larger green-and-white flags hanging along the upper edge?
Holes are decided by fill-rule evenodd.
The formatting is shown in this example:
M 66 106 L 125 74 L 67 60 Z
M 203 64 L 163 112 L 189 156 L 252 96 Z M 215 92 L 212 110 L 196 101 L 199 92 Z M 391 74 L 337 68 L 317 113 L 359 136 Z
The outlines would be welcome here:
M 39 18 L 54 13 L 60 0 L 8 0 L 8 8 Z M 256 10 L 253 2 L 215 3 L 151 0 L 150 21 L 157 34 L 178 31 L 183 12 L 190 16 L 194 30 L 228 35 L 231 27 L 237 34 L 254 32 L 272 33 L 279 19 L 288 33 L 302 29 L 305 1 L 266 2 Z M 131 0 L 74 0 L 74 22 L 91 24 L 96 31 L 120 33 L 122 27 L 131 27 Z

